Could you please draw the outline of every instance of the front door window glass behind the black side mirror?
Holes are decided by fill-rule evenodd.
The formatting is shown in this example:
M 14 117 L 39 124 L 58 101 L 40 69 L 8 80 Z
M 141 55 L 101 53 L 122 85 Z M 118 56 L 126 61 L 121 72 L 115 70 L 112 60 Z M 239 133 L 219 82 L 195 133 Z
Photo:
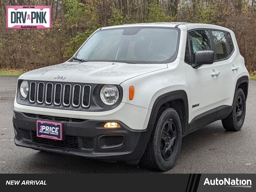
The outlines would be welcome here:
M 207 51 L 210 48 L 210 36 L 208 30 L 195 30 L 188 33 L 191 50 L 191 63 L 194 63 L 194 53 Z

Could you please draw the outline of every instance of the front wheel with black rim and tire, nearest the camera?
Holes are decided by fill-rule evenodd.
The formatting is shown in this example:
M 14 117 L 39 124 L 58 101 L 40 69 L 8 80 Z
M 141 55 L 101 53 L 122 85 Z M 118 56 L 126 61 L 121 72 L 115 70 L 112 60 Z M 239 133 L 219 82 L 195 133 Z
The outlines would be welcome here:
M 173 108 L 162 108 L 140 162 L 152 170 L 169 170 L 178 159 L 181 142 L 182 126 L 178 113 Z

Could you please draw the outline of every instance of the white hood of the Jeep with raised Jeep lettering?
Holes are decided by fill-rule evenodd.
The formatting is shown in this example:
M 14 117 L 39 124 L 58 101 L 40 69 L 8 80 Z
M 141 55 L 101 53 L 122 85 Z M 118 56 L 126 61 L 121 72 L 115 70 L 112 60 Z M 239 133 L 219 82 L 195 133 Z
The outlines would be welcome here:
M 19 79 L 97 84 L 120 84 L 167 64 L 127 64 L 118 62 L 64 62 L 22 74 Z

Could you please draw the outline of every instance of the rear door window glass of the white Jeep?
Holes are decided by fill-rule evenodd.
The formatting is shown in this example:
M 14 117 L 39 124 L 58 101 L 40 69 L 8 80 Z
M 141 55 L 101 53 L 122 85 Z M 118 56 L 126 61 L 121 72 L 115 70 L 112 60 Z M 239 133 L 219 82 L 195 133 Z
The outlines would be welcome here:
M 227 58 L 229 56 L 229 50 L 225 32 L 212 31 L 212 36 L 214 41 L 215 60 Z

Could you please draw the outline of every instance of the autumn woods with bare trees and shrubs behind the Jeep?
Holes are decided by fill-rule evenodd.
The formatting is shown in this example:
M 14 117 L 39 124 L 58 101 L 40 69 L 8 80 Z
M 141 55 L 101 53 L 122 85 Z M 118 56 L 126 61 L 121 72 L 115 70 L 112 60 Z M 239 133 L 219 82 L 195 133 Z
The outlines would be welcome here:
M 230 28 L 248 71 L 256 70 L 256 0 L 0 0 L 0 69 L 68 60 L 102 26 L 196 22 Z M 6 29 L 6 6 L 52 6 L 52 29 Z

